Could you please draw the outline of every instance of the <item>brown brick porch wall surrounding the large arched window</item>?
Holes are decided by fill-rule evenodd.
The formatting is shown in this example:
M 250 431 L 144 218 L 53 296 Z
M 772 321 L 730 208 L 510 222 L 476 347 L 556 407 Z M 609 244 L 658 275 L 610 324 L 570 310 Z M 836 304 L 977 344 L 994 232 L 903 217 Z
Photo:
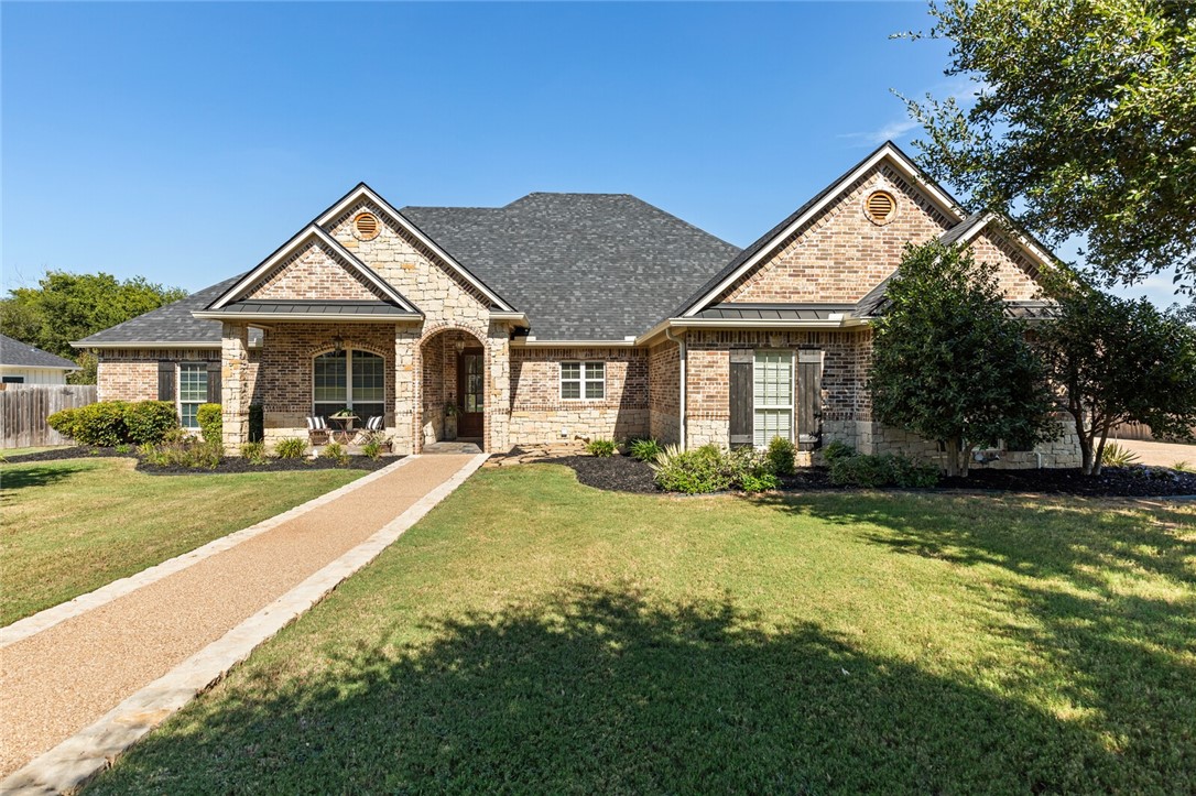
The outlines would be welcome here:
M 313 357 L 331 350 L 337 335 L 346 348 L 360 348 L 385 359 L 386 429 L 396 433 L 395 385 L 409 376 L 395 366 L 393 324 L 277 324 L 266 333 L 257 379 L 268 443 L 287 436 L 306 439 L 305 418 L 312 412 Z

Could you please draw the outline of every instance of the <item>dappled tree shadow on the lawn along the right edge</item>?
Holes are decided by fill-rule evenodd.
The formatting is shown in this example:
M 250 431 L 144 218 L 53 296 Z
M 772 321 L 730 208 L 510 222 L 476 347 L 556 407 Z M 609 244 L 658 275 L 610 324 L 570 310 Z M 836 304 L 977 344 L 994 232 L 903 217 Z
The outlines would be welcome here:
M 1164 790 L 1196 792 L 1190 512 L 1018 497 L 957 498 L 957 510 L 915 496 L 762 502 L 899 553 L 997 568 L 975 581 L 996 608 L 991 632 L 1049 661 L 1054 687 L 1088 714 L 1080 724 L 1116 739 L 1125 765 L 1160 772 Z M 1009 676 L 1035 688 L 1045 674 L 1027 667 Z

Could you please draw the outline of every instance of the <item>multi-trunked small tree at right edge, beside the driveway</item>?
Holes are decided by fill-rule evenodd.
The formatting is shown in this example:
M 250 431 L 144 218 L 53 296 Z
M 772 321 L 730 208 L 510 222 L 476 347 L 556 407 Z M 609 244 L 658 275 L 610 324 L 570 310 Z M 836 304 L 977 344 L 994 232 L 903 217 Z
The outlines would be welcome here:
M 1086 474 L 1100 474 L 1109 430 L 1119 423 L 1192 439 L 1196 329 L 1178 311 L 1076 284 L 1060 295 L 1060 317 L 1036 344 L 1075 422 Z

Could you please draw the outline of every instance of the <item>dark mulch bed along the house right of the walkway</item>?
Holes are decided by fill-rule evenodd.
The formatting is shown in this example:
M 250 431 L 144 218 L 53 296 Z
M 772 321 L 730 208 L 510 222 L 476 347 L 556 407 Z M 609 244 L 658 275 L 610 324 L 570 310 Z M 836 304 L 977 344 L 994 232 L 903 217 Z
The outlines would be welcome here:
M 572 467 L 587 486 L 617 492 L 659 492 L 652 469 L 628 455 L 588 455 L 544 459 L 544 464 Z M 781 477 L 781 491 L 846 491 L 830 483 L 825 467 L 803 467 Z M 945 478 L 935 490 L 920 491 L 1007 491 L 1086 497 L 1174 497 L 1196 495 L 1196 473 L 1167 467 L 1109 467 L 1096 477 L 1079 470 L 974 470 L 968 478 Z M 903 490 L 904 491 L 904 490 Z

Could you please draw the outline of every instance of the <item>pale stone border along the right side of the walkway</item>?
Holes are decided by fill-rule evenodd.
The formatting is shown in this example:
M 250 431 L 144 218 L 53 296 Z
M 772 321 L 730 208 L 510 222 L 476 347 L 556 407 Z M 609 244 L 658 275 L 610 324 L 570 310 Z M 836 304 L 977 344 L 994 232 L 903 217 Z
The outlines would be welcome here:
M 411 459 L 414 457 L 403 459 L 373 474 L 389 472 Z M 249 657 L 257 647 L 273 638 L 347 577 L 377 558 L 403 532 L 474 474 L 486 459 L 486 454 L 474 457 L 452 478 L 421 497 L 366 541 L 311 575 L 303 583 L 230 630 L 219 641 L 208 644 L 124 699 L 91 727 L 80 730 L 33 759 L 25 767 L 10 774 L 4 782 L 0 782 L 0 792 L 23 796 L 61 794 L 73 792 L 85 785 L 100 771 L 112 765 L 116 758 L 146 733 L 158 727 L 196 696 L 219 682 L 232 667 Z M 371 476 L 365 478 L 371 478 Z M 361 480 L 364 478 L 353 482 L 353 484 Z M 335 492 L 329 492 L 329 495 L 332 494 Z

